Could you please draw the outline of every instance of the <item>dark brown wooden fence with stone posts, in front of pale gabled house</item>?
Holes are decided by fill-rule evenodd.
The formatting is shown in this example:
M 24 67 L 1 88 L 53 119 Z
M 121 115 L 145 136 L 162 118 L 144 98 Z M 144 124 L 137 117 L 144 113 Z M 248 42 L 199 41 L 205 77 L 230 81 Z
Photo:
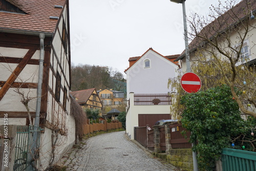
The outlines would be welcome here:
M 135 127 L 135 140 L 152 151 L 155 151 L 156 146 L 159 147 L 159 151 L 166 151 L 166 144 L 172 148 L 191 148 L 191 143 L 188 142 L 190 132 L 186 131 L 181 123 L 165 124 L 166 126 L 153 126 L 152 130 L 147 130 L 146 126 Z M 181 134 L 182 131 L 185 131 L 185 135 Z

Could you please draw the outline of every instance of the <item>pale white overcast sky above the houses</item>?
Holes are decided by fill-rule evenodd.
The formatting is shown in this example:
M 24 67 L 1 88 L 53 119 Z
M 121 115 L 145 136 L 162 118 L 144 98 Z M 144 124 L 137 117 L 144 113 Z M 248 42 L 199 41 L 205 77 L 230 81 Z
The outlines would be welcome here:
M 217 0 L 186 1 L 206 15 Z M 128 59 L 148 48 L 167 56 L 184 49 L 182 4 L 169 0 L 70 1 L 71 62 L 109 66 L 124 74 Z

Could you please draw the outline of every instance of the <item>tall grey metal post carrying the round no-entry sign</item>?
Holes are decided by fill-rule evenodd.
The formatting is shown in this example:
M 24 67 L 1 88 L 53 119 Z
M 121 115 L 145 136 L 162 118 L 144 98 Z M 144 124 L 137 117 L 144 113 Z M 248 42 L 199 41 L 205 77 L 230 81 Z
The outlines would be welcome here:
M 190 69 L 190 58 L 189 58 L 189 50 L 188 50 L 188 37 L 187 37 L 187 22 L 186 22 L 186 8 L 185 8 L 185 1 L 186 0 L 170 0 L 170 2 L 173 3 L 182 3 L 182 10 L 183 10 L 183 25 L 184 25 L 184 38 L 185 38 L 185 60 L 186 60 L 186 71 L 191 72 Z M 192 134 L 192 133 L 191 133 Z M 192 143 L 192 146 L 194 146 L 196 142 Z M 198 171 L 198 163 L 197 163 L 197 153 L 193 152 L 193 166 L 194 171 Z

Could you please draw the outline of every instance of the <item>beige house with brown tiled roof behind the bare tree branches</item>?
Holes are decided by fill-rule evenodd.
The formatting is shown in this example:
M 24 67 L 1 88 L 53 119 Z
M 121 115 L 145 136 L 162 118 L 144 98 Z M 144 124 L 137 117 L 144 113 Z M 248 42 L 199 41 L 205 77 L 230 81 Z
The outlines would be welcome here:
M 221 54 L 214 47 L 213 44 L 215 44 L 218 45 L 222 52 L 232 56 L 233 61 L 236 60 L 237 56 L 239 57 L 238 61 L 236 61 L 236 66 L 245 65 L 255 68 L 256 20 L 251 18 L 252 15 L 255 15 L 255 12 L 256 2 L 253 0 L 243 0 L 207 26 L 200 28 L 197 25 L 194 28 L 198 29 L 197 33 L 195 31 L 191 33 L 195 38 L 189 44 L 190 60 L 195 60 L 198 55 L 206 56 L 208 59 L 212 55 L 216 55 L 222 60 L 227 59 L 224 54 Z M 179 61 L 182 64 L 183 72 L 186 72 L 184 52 L 174 61 Z

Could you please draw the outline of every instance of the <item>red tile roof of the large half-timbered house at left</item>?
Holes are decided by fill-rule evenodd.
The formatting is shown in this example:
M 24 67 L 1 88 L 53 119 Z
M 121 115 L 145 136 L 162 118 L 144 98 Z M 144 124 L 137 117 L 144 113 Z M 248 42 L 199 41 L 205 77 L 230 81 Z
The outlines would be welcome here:
M 26 14 L 0 11 L 0 30 L 15 29 L 25 31 L 53 33 L 58 20 L 50 16 L 60 16 L 62 9 L 55 5 L 64 6 L 66 0 L 7 0 L 23 10 Z

